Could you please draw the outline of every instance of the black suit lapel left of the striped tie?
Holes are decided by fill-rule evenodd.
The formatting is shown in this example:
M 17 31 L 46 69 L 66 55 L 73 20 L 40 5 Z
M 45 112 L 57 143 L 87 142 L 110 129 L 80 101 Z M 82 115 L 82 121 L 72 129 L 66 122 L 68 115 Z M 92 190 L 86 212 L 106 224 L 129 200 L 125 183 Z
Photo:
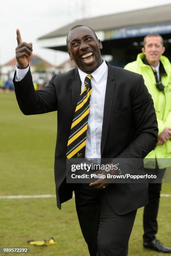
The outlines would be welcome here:
M 74 117 L 75 108 L 78 103 L 78 99 L 81 93 L 81 80 L 78 73 L 78 69 L 75 69 L 74 72 L 74 81 L 72 83 L 72 113 Z

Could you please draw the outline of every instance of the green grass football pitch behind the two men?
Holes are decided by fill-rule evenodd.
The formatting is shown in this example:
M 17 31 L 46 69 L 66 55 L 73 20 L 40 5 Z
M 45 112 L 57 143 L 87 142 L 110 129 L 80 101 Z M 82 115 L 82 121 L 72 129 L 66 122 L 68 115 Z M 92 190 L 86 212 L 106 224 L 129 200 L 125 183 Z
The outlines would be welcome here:
M 0 196 L 55 194 L 56 115 L 25 116 L 15 94 L 0 93 Z M 171 194 L 171 184 L 163 184 L 162 193 Z M 165 255 L 143 250 L 142 213 L 139 209 L 128 255 Z M 157 238 L 171 246 L 171 197 L 161 198 L 158 225 Z M 29 239 L 51 236 L 57 245 L 27 244 Z M 35 256 L 88 256 L 74 199 L 64 203 L 62 210 L 55 198 L 0 199 L 0 247 L 29 247 L 29 255 Z

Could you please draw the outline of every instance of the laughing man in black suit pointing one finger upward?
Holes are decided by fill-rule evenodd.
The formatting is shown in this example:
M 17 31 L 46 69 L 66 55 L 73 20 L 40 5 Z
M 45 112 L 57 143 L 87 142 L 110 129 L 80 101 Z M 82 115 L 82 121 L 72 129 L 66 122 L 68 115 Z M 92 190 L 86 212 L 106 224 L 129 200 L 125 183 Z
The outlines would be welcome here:
M 126 256 L 136 210 L 148 202 L 147 183 L 104 184 L 98 179 L 90 184 L 69 184 L 66 154 L 75 108 L 86 87 L 87 75 L 91 77 L 92 93 L 82 157 L 143 159 L 155 147 L 156 114 L 142 76 L 104 61 L 100 53 L 102 44 L 95 32 L 78 25 L 67 36 L 70 59 L 78 68 L 54 75 L 46 87 L 35 92 L 29 68 L 32 43 L 22 42 L 19 30 L 17 41 L 14 84 L 21 111 L 32 115 L 58 110 L 55 148 L 58 208 L 72 198 L 74 190 L 78 219 L 90 255 Z

